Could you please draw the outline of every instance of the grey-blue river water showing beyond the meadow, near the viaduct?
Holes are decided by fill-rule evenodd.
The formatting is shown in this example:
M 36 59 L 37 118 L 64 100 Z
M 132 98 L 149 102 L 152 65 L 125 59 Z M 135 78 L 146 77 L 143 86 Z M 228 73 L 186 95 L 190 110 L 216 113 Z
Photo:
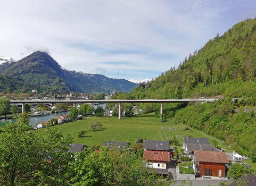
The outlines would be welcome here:
M 97 106 L 102 106 L 105 109 L 106 104 L 105 103 L 98 104 L 98 105 L 94 105 L 93 107 L 97 108 Z M 44 122 L 44 121 L 49 121 L 53 118 L 56 118 L 57 115 L 59 115 L 59 114 L 69 114 L 69 111 L 68 112 L 53 113 L 53 114 L 49 114 L 49 115 L 45 115 L 45 116 L 30 117 L 29 118 L 29 125 L 36 126 L 37 123 Z M 3 121 L 5 121 L 5 120 L 1 120 L 0 124 L 3 124 Z M 13 121 L 13 120 L 6 120 L 6 121 Z

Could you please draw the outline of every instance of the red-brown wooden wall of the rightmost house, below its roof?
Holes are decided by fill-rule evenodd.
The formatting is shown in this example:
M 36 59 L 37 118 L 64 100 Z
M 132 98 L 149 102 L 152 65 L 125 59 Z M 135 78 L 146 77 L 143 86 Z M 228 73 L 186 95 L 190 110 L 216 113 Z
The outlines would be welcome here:
M 221 170 L 221 177 L 225 177 L 225 164 L 223 163 L 208 163 L 208 162 L 199 162 L 199 171 L 200 175 L 204 175 L 204 170 L 210 169 L 212 176 L 219 176 L 219 170 Z

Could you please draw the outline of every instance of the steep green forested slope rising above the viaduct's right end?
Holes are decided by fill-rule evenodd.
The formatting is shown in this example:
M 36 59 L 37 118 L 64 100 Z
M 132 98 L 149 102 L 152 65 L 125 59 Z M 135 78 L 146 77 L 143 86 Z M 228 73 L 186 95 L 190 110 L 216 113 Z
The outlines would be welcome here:
M 134 98 L 251 96 L 256 77 L 256 20 L 237 23 L 198 51 L 185 57 L 177 69 L 135 88 Z

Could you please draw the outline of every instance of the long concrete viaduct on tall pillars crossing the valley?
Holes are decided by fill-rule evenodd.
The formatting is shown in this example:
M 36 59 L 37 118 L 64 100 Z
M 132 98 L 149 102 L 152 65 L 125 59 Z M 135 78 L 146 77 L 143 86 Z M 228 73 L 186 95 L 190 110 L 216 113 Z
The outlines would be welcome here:
M 25 111 L 25 104 L 35 104 L 35 103 L 67 103 L 73 104 L 75 107 L 77 103 L 119 103 L 119 112 L 118 118 L 121 117 L 121 103 L 161 103 L 160 105 L 160 114 L 163 112 L 163 103 L 188 103 L 188 102 L 215 102 L 217 98 L 209 99 L 100 99 L 100 100 L 91 100 L 91 99 L 74 99 L 74 100 L 11 100 L 11 104 L 22 105 L 22 113 Z

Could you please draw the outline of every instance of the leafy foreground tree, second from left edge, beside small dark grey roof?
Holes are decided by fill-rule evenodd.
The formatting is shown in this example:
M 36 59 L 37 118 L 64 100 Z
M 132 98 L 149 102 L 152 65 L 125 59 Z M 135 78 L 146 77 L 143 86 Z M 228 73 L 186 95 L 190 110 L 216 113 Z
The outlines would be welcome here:
M 67 175 L 68 164 L 74 158 L 67 153 L 73 140 L 71 135 L 64 136 L 56 128 L 48 127 L 44 133 L 36 133 L 37 144 L 43 163 L 35 171 L 34 179 L 37 185 L 69 185 Z

